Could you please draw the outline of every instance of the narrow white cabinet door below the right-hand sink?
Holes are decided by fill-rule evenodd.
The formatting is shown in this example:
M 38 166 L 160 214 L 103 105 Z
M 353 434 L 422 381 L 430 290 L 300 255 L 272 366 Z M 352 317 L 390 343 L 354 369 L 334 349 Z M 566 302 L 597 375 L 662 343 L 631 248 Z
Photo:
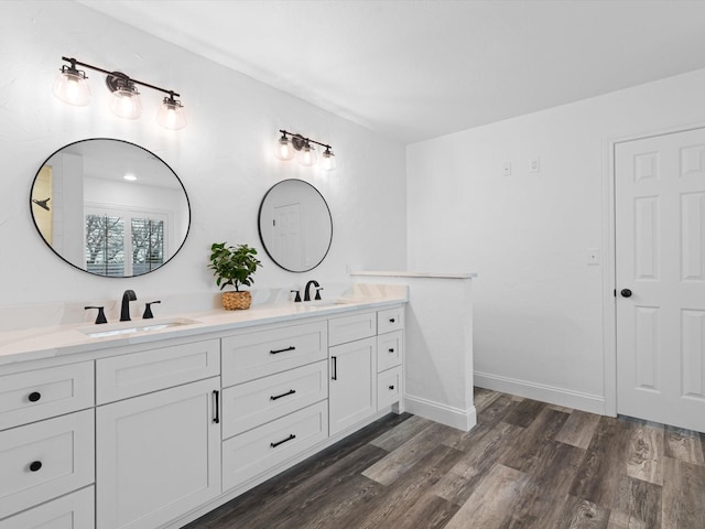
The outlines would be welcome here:
M 328 409 L 330 435 L 377 411 L 377 338 L 329 349 Z

